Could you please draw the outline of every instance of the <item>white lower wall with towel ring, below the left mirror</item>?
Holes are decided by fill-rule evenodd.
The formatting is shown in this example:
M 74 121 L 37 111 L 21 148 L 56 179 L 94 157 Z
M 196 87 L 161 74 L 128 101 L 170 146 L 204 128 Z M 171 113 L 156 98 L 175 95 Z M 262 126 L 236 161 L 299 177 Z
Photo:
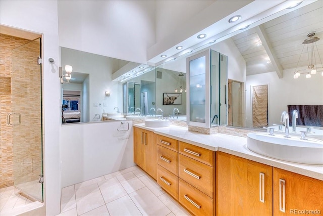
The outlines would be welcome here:
M 134 166 L 132 121 L 66 124 L 61 131 L 62 187 Z M 107 133 L 109 132 L 109 133 Z

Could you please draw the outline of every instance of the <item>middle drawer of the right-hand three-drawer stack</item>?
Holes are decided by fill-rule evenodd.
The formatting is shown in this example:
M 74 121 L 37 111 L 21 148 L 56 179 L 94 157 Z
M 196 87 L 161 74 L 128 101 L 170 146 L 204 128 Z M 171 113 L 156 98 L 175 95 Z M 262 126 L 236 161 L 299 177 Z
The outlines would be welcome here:
M 182 154 L 179 154 L 178 163 L 178 177 L 212 198 L 213 167 Z

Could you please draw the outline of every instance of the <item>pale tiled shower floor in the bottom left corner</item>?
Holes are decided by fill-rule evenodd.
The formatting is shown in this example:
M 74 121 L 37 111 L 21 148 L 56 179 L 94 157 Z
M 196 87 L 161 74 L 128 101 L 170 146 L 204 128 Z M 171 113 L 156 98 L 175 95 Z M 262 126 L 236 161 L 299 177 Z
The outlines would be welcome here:
M 43 203 L 18 194 L 14 186 L 0 189 L 1 216 L 17 215 L 41 206 Z

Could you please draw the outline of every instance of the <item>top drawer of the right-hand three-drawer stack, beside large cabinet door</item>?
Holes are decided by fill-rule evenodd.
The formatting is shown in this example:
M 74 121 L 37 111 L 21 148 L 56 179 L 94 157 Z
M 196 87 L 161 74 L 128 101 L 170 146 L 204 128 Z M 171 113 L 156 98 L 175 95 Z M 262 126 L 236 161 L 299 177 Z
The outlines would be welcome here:
M 214 151 L 179 141 L 179 153 L 202 163 L 214 166 Z

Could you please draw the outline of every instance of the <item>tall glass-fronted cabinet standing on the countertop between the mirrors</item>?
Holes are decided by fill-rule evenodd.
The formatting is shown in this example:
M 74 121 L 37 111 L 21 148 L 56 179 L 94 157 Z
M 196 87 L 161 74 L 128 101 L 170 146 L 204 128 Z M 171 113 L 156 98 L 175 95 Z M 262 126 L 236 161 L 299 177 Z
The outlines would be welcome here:
M 222 119 L 226 123 L 227 57 L 209 49 L 188 57 L 186 64 L 188 125 L 210 128 Z

